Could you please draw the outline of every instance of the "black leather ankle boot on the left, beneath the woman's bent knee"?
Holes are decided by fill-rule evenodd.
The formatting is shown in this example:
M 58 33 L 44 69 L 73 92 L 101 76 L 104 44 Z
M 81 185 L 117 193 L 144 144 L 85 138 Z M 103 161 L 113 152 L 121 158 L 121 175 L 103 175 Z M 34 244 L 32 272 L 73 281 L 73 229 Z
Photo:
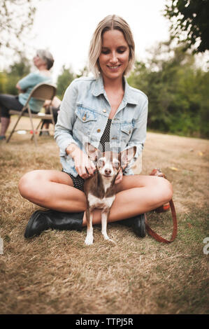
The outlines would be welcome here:
M 80 213 L 64 213 L 61 211 L 37 210 L 32 214 L 24 237 L 33 237 L 40 235 L 41 232 L 51 228 L 52 230 L 82 230 L 82 218 L 84 211 Z

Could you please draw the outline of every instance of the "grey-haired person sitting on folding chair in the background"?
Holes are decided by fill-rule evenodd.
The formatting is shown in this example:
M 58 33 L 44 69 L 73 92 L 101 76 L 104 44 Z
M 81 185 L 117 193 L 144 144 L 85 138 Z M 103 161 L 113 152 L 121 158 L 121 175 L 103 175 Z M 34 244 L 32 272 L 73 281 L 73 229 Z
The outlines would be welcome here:
M 0 94 L 0 113 L 1 113 L 1 132 L 0 140 L 6 139 L 5 134 L 10 124 L 9 110 L 21 111 L 31 90 L 38 83 L 52 83 L 50 69 L 54 64 L 52 54 L 48 50 L 38 50 L 34 56 L 34 65 L 38 69 L 37 72 L 29 73 L 27 76 L 17 82 L 17 89 L 20 91 L 18 96 L 10 94 Z M 31 112 L 38 113 L 43 102 L 38 99 L 31 98 L 29 101 Z

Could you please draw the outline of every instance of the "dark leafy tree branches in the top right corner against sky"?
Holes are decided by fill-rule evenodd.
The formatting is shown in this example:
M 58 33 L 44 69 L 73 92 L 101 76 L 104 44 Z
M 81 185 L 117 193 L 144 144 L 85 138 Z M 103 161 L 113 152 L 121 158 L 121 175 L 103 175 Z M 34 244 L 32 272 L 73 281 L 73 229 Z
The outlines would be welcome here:
M 185 49 L 209 50 L 209 0 L 170 0 L 164 16 L 171 20 L 171 36 L 186 43 Z

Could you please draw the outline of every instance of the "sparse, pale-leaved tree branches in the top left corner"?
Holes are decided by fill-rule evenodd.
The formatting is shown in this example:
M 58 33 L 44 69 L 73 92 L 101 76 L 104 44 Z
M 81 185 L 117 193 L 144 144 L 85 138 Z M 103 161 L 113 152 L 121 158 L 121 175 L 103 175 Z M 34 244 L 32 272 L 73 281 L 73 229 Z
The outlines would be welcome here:
M 0 2 L 0 51 L 10 48 L 19 52 L 24 44 L 24 32 L 34 22 L 35 0 L 1 0 Z M 37 2 L 37 0 L 36 0 Z

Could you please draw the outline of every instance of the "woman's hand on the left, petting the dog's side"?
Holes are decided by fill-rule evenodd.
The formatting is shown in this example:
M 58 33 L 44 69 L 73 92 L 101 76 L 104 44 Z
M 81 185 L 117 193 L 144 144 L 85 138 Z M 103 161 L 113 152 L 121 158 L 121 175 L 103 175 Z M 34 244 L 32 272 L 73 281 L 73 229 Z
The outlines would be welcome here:
M 94 162 L 92 162 L 87 154 L 83 153 L 78 146 L 70 144 L 66 148 L 66 153 L 73 158 L 76 172 L 78 172 L 78 175 L 82 177 L 82 179 L 88 179 L 94 174 L 94 171 L 96 170 Z

